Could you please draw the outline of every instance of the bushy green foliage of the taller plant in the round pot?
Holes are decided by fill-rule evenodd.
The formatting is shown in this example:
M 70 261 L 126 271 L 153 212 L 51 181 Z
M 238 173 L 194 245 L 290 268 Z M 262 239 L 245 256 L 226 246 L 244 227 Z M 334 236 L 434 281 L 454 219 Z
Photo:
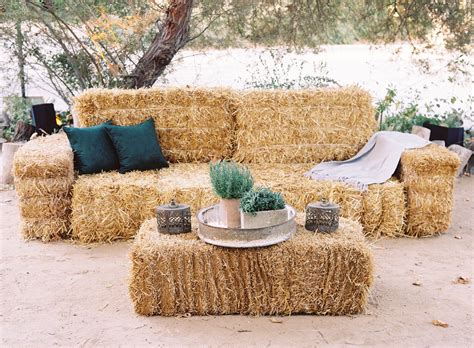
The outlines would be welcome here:
M 253 186 L 252 174 L 247 167 L 232 161 L 211 163 L 209 167 L 212 188 L 221 198 L 242 198 Z

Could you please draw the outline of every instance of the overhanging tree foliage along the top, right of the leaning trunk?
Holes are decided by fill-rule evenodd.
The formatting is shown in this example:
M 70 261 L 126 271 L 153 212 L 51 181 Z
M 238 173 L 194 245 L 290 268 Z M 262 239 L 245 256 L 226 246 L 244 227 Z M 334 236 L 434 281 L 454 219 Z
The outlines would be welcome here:
M 430 44 L 430 36 L 438 32 L 443 33 L 448 49 L 467 51 L 470 7 L 466 1 L 433 0 L 199 0 L 193 33 L 206 23 L 212 25 L 192 44 L 216 48 L 249 44 L 302 48 L 400 40 Z

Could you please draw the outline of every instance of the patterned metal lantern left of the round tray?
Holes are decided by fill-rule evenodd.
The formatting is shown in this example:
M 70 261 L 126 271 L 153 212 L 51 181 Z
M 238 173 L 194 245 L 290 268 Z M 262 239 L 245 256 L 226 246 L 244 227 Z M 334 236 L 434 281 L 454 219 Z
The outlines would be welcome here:
M 170 204 L 156 208 L 156 221 L 160 233 L 191 232 L 191 209 L 189 205 L 177 204 L 173 199 Z

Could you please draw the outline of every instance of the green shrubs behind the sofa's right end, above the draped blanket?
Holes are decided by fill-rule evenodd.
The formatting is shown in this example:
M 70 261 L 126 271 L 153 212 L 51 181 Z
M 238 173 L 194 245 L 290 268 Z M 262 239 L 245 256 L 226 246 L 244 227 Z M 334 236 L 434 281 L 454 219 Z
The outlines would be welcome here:
M 386 96 L 376 104 L 375 116 L 381 120 L 380 129 L 397 132 L 410 133 L 413 126 L 422 126 L 424 122 L 443 125 L 446 127 L 462 127 L 463 119 L 469 118 L 461 108 L 455 108 L 456 98 L 435 99 L 424 105 L 420 96 L 415 94 L 414 100 L 402 102 L 397 100 L 397 91 L 393 88 L 387 89 Z M 438 111 L 442 106 L 447 111 Z

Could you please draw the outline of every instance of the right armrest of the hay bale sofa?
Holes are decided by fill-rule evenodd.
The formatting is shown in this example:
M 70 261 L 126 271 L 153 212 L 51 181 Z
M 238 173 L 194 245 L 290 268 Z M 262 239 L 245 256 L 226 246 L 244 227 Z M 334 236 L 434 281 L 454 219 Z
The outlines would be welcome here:
M 426 237 L 448 229 L 459 163 L 456 154 L 437 145 L 403 153 L 400 176 L 407 195 L 406 234 Z

